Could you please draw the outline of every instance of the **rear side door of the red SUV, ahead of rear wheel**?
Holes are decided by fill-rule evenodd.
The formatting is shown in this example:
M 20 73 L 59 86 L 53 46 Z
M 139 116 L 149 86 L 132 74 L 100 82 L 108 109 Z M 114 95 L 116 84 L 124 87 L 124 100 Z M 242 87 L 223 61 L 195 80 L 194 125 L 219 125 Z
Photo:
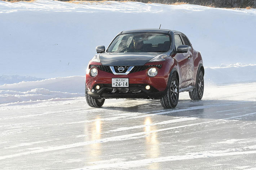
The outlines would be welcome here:
M 182 53 L 184 57 L 187 59 L 186 62 L 186 83 L 185 86 L 189 86 L 192 83 L 192 76 L 193 76 L 193 64 L 194 64 L 194 58 L 193 58 L 193 49 L 191 48 L 191 45 L 189 41 L 187 40 L 187 37 L 184 35 L 181 35 L 184 45 L 189 46 L 189 50 L 186 53 Z

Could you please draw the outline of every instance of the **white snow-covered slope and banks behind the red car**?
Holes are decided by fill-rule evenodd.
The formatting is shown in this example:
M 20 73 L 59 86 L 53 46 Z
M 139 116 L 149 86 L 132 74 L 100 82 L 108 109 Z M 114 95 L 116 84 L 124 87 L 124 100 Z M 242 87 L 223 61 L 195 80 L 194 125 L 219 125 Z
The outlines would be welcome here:
M 206 87 L 256 82 L 255 9 L 0 1 L 0 104 L 79 97 L 95 46 L 109 45 L 120 31 L 160 24 L 185 33 L 201 51 Z

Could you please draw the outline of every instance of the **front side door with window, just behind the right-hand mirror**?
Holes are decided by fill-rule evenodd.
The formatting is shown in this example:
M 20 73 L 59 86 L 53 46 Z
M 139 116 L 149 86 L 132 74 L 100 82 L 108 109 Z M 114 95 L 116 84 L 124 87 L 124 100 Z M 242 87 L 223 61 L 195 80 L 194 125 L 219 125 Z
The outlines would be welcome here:
M 175 43 L 175 50 L 177 51 L 178 46 L 183 45 L 181 37 L 179 34 L 174 35 L 174 43 Z M 180 88 L 185 87 L 186 84 L 186 63 L 187 58 L 182 53 L 177 53 L 175 55 L 175 59 L 178 61 L 178 65 L 180 66 Z

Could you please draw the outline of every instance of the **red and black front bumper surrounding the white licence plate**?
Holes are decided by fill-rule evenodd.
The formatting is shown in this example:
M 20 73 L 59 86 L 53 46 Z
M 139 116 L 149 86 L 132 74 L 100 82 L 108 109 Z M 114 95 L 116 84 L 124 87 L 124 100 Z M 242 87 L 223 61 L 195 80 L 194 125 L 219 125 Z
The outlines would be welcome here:
M 89 65 L 92 63 L 89 63 Z M 147 76 L 147 70 L 142 70 L 127 75 L 114 75 L 112 72 L 98 69 L 98 75 L 91 77 L 89 65 L 86 73 L 86 90 L 92 97 L 97 98 L 161 98 L 166 94 L 170 67 L 167 62 L 151 63 L 161 64 L 162 68 L 157 68 L 158 74 L 155 77 Z M 112 78 L 129 78 L 129 87 L 112 87 Z M 100 89 L 95 87 L 99 85 Z M 146 90 L 145 86 L 150 89 Z

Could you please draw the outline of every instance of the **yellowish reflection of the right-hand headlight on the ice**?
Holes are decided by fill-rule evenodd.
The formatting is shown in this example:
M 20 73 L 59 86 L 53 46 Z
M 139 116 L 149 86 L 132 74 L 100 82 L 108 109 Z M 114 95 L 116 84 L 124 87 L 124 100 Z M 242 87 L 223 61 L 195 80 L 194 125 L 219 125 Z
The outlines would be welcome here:
M 144 131 L 149 132 L 152 130 L 157 130 L 155 126 L 150 126 L 152 124 L 151 117 L 146 117 L 144 121 Z M 159 142 L 157 139 L 157 133 L 148 133 L 146 136 L 146 157 L 147 158 L 157 158 L 159 156 Z M 159 169 L 159 163 L 155 162 L 149 165 L 148 169 Z

